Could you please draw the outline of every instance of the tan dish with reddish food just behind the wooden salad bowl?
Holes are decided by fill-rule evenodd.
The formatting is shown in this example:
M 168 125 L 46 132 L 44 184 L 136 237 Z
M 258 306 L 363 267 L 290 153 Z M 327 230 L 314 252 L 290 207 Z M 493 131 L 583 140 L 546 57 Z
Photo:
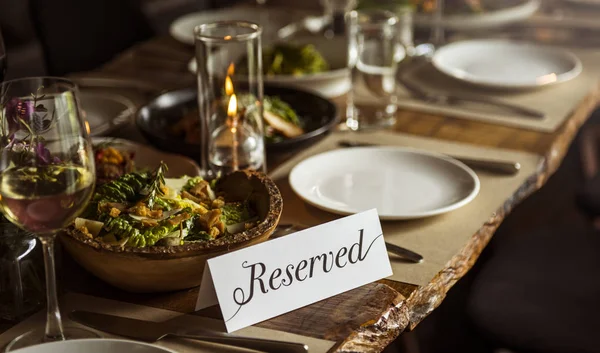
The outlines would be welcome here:
M 169 167 L 167 177 L 178 178 L 184 175 L 202 175 L 200 167 L 193 160 L 178 154 L 165 153 L 150 146 L 113 137 L 92 137 L 92 144 L 108 143 L 118 150 L 133 152 L 133 162 L 138 170 L 154 170 L 163 161 Z

